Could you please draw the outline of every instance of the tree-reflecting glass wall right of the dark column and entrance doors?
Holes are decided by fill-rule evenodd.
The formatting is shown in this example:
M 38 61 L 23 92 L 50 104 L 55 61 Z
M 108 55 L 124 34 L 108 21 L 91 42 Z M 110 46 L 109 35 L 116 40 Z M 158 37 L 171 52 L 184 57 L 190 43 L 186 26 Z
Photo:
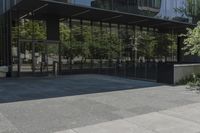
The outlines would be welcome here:
M 158 62 L 177 61 L 175 34 L 73 19 L 60 25 L 66 31 L 61 32 L 63 73 L 99 73 L 156 80 Z

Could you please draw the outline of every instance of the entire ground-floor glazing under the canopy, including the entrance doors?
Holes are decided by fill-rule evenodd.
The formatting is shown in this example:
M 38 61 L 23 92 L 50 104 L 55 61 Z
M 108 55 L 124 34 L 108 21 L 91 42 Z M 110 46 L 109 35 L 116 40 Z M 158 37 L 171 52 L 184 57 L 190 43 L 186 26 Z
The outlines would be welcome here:
M 34 31 L 28 29 L 32 26 Z M 58 63 L 60 74 L 94 73 L 156 80 L 157 63 L 177 61 L 176 44 L 175 34 L 76 19 L 60 22 L 60 42 L 51 42 L 46 40 L 44 22 L 21 20 L 19 27 L 13 28 L 12 75 L 53 74 Z

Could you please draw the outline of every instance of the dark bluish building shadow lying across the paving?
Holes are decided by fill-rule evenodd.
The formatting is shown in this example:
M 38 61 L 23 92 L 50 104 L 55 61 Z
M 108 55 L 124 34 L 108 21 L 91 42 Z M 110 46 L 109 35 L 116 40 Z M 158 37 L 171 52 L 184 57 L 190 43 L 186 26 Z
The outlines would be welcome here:
M 155 82 L 105 75 L 14 78 L 0 80 L 0 103 L 161 86 Z

